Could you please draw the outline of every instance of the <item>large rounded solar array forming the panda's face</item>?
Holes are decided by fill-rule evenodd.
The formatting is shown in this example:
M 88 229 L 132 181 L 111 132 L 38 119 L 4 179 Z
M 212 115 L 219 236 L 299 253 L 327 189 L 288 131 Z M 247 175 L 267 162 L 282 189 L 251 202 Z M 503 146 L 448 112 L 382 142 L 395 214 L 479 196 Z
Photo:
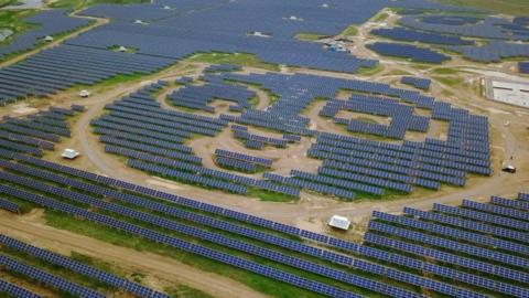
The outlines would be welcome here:
M 490 174 L 487 118 L 418 92 L 301 74 L 207 73 L 204 79 L 226 86 L 233 82 L 259 84 L 260 88 L 278 94 L 279 99 L 267 110 L 250 108 L 240 116 L 204 117 L 161 108 L 151 95 L 165 85 L 158 83 L 107 105 L 110 113 L 93 121 L 106 143 L 105 150 L 129 158 L 128 164 L 136 169 L 240 194 L 257 188 L 298 196 L 300 190 L 307 189 L 352 200 L 356 192 L 381 195 L 385 190 L 409 193 L 414 187 L 438 190 L 443 183 L 463 187 L 467 173 Z M 355 94 L 348 100 L 330 99 L 321 115 L 338 121 L 335 115 L 345 109 L 392 119 L 388 126 L 359 126 L 364 125 L 360 120 L 343 119 L 349 130 L 398 139 L 404 139 L 408 131 L 428 131 L 430 118 L 417 115 L 409 105 L 411 102 L 417 107 L 432 109 L 432 119 L 449 123 L 447 140 L 404 140 L 397 146 L 307 129 L 310 120 L 300 115 L 301 110 L 314 98 L 333 98 L 338 89 L 365 94 Z M 300 135 L 317 136 L 307 156 L 324 162 L 317 173 L 293 169 L 291 177 L 267 173 L 263 180 L 250 179 L 203 167 L 201 158 L 182 145 L 192 134 L 216 136 L 228 123 L 234 137 L 251 149 L 262 149 L 266 145 L 285 148 L 289 142 L 300 141 Z M 264 137 L 250 132 L 248 125 L 290 132 L 279 138 Z M 257 167 L 249 164 L 249 157 L 237 160 L 222 156 L 215 160 L 228 170 L 257 171 Z

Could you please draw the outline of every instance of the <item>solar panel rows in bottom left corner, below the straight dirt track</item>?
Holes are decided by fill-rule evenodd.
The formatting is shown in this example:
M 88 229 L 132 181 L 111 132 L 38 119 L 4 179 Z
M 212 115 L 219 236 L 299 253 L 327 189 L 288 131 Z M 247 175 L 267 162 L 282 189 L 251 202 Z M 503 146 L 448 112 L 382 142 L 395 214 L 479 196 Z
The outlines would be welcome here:
M 125 278 L 115 276 L 112 274 L 109 274 L 109 273 L 106 273 L 104 270 L 100 270 L 100 269 L 97 269 L 95 267 L 83 264 L 78 260 L 73 260 L 68 257 L 62 256 L 62 255 L 56 254 L 56 253 L 52 253 L 52 252 L 43 249 L 43 248 L 39 248 L 36 246 L 20 242 L 15 238 L 11 238 L 11 237 L 8 237 L 6 235 L 0 235 L 0 244 L 3 247 L 9 247 L 10 249 L 15 251 L 17 253 L 22 253 L 22 254 L 30 255 L 30 256 L 35 257 L 35 258 L 37 258 L 37 259 L 40 259 L 40 260 L 42 260 L 46 264 L 65 268 L 66 270 L 68 270 L 71 273 L 75 273 L 75 274 L 84 276 L 84 278 L 96 279 L 96 280 L 98 280 L 98 281 L 100 281 L 105 285 L 108 285 L 112 288 L 117 288 L 117 289 L 120 289 L 120 290 L 126 290 L 126 291 L 128 291 L 132 295 L 136 295 L 138 297 L 145 297 L 145 298 L 169 298 L 170 297 L 169 295 L 165 295 L 163 292 L 152 290 L 152 289 L 147 288 L 144 286 L 141 286 L 137 283 L 129 281 Z M 3 255 L 0 255 L 0 257 L 3 257 Z M 8 267 L 9 267 L 9 265 L 8 265 Z M 23 265 L 20 264 L 20 267 L 23 267 Z M 17 268 L 13 268 L 13 270 L 18 272 Z M 31 270 L 34 274 L 36 274 L 36 276 L 34 276 Z M 41 276 L 46 275 L 45 273 L 39 273 L 39 270 L 35 270 L 35 269 L 31 269 L 31 270 L 29 272 L 29 274 L 30 274 L 29 277 L 30 278 L 40 279 Z M 60 279 L 60 278 L 56 278 L 56 279 Z M 42 281 L 44 281 L 45 284 L 48 284 L 48 285 L 56 284 L 53 280 L 50 281 L 50 280 L 43 279 Z M 58 283 L 58 284 L 61 284 L 61 283 Z M 63 284 L 66 284 L 66 283 L 63 281 Z M 99 295 L 99 294 L 97 294 L 93 290 L 89 290 L 89 289 L 80 289 L 79 290 L 79 289 L 80 289 L 80 287 L 75 286 L 75 285 L 74 286 L 71 285 L 68 287 L 69 292 L 72 292 L 76 296 L 79 296 L 79 297 L 102 297 L 101 295 Z M 76 290 L 76 291 L 74 291 L 74 290 Z M 90 295 L 94 295 L 94 296 L 90 296 Z

